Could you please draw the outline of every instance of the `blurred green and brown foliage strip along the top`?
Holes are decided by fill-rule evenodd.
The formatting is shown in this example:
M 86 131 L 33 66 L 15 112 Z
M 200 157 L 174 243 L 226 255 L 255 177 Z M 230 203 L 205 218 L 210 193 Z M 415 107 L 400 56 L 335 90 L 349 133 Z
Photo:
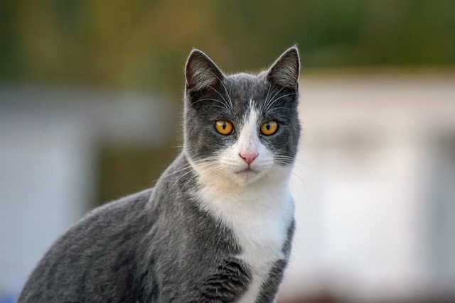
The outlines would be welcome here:
M 304 68 L 454 65 L 453 0 L 14 1 L 0 4 L 0 80 L 181 94 L 188 52 L 259 70 L 289 45 Z M 176 92 L 178 91 L 178 92 Z

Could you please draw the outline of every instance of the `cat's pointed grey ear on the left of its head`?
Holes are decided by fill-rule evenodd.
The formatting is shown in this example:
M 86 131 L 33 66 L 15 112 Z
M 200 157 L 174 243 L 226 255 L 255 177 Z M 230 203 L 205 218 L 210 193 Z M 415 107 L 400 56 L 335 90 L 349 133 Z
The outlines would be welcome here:
M 201 92 L 215 87 L 225 76 L 208 55 L 193 50 L 186 61 L 185 77 L 188 92 Z

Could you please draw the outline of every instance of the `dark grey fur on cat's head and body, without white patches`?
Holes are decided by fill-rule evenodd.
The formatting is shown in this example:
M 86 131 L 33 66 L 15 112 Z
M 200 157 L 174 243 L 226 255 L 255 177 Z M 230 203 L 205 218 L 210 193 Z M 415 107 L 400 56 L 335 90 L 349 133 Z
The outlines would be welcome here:
M 280 122 L 261 138 L 280 165 L 292 165 L 299 141 L 299 55 L 290 48 L 259 75 L 225 76 L 193 50 L 186 64 L 184 147 L 153 189 L 101 206 L 70 228 L 31 273 L 18 302 L 237 302 L 250 268 L 222 221 L 200 207 L 197 172 L 203 160 L 237 139 L 220 136 L 213 121 L 242 123 L 249 106 Z M 267 95 L 277 100 L 267 108 Z M 254 102 L 249 99 L 254 96 Z M 230 98 L 230 103 L 223 104 Z M 218 100 L 217 101 L 214 101 Z M 272 302 L 289 258 L 294 221 L 279 260 L 256 302 Z

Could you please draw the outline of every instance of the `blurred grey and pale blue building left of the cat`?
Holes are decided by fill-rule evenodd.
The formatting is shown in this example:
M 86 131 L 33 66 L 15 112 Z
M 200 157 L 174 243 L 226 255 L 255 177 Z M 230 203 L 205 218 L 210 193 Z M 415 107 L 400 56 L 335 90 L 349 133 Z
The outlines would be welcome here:
M 0 299 L 97 204 L 102 146 L 168 144 L 172 105 L 145 93 L 0 87 Z

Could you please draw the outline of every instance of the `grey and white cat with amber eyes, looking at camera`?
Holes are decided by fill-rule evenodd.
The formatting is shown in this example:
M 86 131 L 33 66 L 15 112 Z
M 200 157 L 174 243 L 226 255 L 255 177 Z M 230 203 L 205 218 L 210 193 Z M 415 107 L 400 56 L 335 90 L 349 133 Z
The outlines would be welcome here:
M 180 155 L 154 188 L 61 236 L 18 302 L 274 302 L 294 233 L 299 72 L 296 47 L 230 76 L 192 50 Z

